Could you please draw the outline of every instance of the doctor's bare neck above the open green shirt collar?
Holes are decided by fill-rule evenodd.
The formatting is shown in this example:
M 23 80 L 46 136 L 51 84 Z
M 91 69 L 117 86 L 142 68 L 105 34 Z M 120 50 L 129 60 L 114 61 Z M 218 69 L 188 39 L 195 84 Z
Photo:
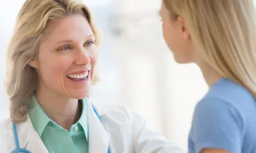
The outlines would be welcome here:
M 54 92 L 44 87 L 39 86 L 35 92 L 38 103 L 51 120 L 63 129 L 70 131 L 72 124 L 77 122 L 81 116 L 79 100 L 54 94 Z

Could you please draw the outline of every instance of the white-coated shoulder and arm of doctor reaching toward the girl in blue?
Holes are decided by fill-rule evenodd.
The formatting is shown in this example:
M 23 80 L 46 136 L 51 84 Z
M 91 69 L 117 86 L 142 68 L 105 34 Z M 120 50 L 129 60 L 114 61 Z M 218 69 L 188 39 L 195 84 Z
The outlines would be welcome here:
M 167 141 L 163 135 L 147 129 L 146 120 L 128 107 L 120 105 L 95 106 L 100 120 L 109 132 L 112 148 L 124 148 L 130 152 L 183 152 L 175 143 Z M 154 147 L 153 147 L 154 146 Z

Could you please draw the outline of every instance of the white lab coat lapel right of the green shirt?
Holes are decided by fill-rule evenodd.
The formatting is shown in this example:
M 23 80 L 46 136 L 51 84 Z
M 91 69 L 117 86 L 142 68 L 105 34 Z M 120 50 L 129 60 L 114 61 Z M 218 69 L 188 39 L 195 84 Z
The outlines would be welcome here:
M 109 148 L 109 136 L 88 99 L 86 99 L 86 103 L 89 127 L 89 152 L 107 153 Z

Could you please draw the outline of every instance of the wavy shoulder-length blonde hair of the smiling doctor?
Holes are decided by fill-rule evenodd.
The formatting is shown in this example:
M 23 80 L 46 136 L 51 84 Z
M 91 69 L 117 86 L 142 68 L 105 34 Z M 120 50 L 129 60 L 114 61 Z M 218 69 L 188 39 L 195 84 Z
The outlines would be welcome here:
M 48 24 L 72 14 L 81 14 L 87 18 L 98 46 L 96 27 L 89 9 L 83 3 L 76 0 L 27 0 L 23 4 L 7 52 L 5 86 L 10 99 L 12 122 L 27 120 L 27 101 L 38 87 L 38 74 L 28 63 L 38 56 L 40 40 Z M 94 79 L 94 84 L 97 81 L 98 77 Z

